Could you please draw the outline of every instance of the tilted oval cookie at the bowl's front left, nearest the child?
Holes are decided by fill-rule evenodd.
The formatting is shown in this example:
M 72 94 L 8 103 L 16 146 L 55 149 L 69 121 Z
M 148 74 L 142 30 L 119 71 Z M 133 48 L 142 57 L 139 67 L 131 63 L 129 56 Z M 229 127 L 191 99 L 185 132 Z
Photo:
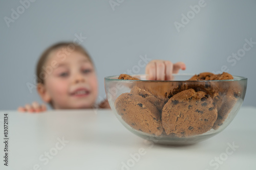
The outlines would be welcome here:
M 141 95 L 123 93 L 115 101 L 117 113 L 132 128 L 157 136 L 163 132 L 161 113 Z

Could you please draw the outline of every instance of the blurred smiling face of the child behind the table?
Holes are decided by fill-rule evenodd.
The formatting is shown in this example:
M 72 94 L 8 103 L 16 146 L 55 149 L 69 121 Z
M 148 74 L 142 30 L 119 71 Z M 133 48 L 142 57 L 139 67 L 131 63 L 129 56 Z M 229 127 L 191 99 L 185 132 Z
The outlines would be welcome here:
M 48 57 L 44 88 L 53 107 L 92 108 L 98 95 L 98 82 L 94 66 L 88 57 L 75 51 L 64 55 L 61 50 L 56 50 Z

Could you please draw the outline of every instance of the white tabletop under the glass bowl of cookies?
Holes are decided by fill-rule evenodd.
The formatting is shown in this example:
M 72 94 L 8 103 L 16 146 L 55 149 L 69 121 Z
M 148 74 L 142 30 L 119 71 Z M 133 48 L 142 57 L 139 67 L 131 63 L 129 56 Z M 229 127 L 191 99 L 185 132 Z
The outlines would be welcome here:
M 0 169 L 256 169 L 253 107 L 242 107 L 220 134 L 185 147 L 141 139 L 126 130 L 111 110 L 0 111 L 0 121 L 5 112 L 9 113 L 9 166 L 4 166 L 1 142 Z M 61 143 L 62 138 L 66 141 Z

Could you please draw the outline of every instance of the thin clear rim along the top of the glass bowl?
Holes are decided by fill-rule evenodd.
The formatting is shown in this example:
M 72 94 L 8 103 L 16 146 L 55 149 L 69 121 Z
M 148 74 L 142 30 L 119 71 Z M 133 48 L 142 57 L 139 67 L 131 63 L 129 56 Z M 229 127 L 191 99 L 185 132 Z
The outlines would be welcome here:
M 173 74 L 173 76 L 195 76 L 197 74 Z M 146 76 L 145 74 L 139 74 L 139 75 L 130 75 L 132 77 L 134 76 Z M 232 75 L 233 76 L 233 75 Z M 233 76 L 233 80 L 123 80 L 123 79 L 113 79 L 113 78 L 118 78 L 119 75 L 117 76 L 108 76 L 105 77 L 105 80 L 108 81 L 138 81 L 138 82 L 225 82 L 225 81 L 245 81 L 247 80 L 246 77 L 241 77 L 241 76 Z

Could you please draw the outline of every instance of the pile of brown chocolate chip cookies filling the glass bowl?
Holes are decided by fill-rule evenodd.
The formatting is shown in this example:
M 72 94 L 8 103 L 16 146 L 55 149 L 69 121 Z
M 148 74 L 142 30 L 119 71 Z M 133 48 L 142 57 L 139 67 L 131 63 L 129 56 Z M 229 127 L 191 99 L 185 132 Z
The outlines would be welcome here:
M 129 75 L 118 79 L 139 80 Z M 133 129 L 149 134 L 187 137 L 222 126 L 241 95 L 227 72 L 203 72 L 188 81 L 136 81 L 115 101 L 117 113 Z

